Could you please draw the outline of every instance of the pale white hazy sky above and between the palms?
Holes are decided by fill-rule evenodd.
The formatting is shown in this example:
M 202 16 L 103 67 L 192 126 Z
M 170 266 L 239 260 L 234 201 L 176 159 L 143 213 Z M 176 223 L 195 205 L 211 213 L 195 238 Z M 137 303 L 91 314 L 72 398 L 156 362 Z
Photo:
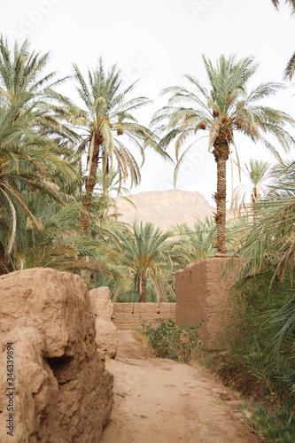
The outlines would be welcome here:
M 159 91 L 182 84 L 183 74 L 206 82 L 202 53 L 213 60 L 221 53 L 255 56 L 260 67 L 254 86 L 282 82 L 284 66 L 295 51 L 295 19 L 288 7 L 277 13 L 271 0 L 2 0 L 0 29 L 9 38 L 27 37 L 32 49 L 50 51 L 50 69 L 57 69 L 60 76 L 72 74 L 72 62 L 85 72 L 102 56 L 105 66 L 118 64 L 127 83 L 140 78 L 135 97 L 154 102 L 138 114 L 144 124 L 165 104 Z M 295 89 L 288 87 L 268 105 L 295 117 Z M 74 97 L 73 85 L 68 83 L 63 92 Z M 262 146 L 241 137 L 237 147 L 242 162 L 274 161 Z M 169 153 L 173 152 L 171 146 Z M 295 156 L 291 152 L 289 157 Z M 132 192 L 172 189 L 173 171 L 172 164 L 147 152 L 142 183 Z M 229 200 L 230 167 L 228 177 Z M 238 184 L 237 173 L 234 183 Z M 177 188 L 198 190 L 213 204 L 216 165 L 206 138 L 195 144 L 183 163 Z

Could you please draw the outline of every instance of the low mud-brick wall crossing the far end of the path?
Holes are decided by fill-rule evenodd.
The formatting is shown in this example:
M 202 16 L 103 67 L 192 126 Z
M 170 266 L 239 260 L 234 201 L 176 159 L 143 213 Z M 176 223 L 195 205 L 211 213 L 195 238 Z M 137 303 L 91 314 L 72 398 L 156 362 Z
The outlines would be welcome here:
M 113 323 L 116 326 L 139 326 L 143 320 L 155 326 L 157 318 L 175 321 L 176 303 L 113 303 Z

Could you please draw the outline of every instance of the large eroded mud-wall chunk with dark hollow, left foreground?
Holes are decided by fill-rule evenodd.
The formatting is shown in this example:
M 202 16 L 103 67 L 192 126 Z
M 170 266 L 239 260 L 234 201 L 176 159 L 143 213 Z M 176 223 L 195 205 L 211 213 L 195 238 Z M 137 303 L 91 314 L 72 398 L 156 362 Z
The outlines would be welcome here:
M 97 352 L 79 276 L 33 268 L 0 277 L 0 441 L 98 443 L 113 376 Z M 13 438 L 7 434 L 7 343 L 13 342 Z

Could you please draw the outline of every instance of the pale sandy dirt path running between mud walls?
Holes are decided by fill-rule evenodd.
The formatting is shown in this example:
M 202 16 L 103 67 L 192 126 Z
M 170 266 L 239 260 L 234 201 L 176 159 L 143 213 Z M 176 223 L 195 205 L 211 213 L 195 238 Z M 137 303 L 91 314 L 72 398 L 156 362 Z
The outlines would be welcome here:
M 130 330 L 106 367 L 114 406 L 103 443 L 254 443 L 237 418 L 238 401 L 209 374 L 176 361 L 147 359 Z

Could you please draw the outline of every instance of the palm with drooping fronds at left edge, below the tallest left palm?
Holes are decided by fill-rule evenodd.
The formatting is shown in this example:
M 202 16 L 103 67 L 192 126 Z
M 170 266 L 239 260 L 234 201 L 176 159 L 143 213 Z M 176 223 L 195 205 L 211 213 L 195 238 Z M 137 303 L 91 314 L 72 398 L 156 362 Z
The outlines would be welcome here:
M 37 229 L 42 228 L 27 208 L 21 189 L 43 190 L 62 202 L 52 176 L 63 176 L 65 181 L 75 177 L 73 167 L 61 158 L 60 146 L 35 130 L 38 113 L 23 112 L 26 101 L 22 94 L 7 108 L 0 99 L 0 274 L 8 271 L 7 254 L 12 250 L 19 210 L 25 211 Z

